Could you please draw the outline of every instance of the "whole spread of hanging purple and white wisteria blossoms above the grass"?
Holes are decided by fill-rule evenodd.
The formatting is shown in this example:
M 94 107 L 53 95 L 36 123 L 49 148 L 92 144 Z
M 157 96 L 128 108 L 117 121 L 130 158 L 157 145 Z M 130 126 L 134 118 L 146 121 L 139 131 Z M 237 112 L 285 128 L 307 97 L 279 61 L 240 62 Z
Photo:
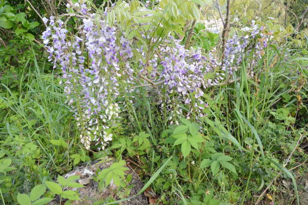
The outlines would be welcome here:
M 191 112 L 195 109 L 202 117 L 202 89 L 217 85 L 224 79 L 225 73 L 232 74 L 233 60 L 240 63 L 239 53 L 249 45 L 249 38 L 264 38 L 263 42 L 255 43 L 258 47 L 254 55 L 260 56 L 270 37 L 263 34 L 263 29 L 258 26 L 245 28 L 243 32 L 248 37 L 235 36 L 228 41 L 228 60 L 221 65 L 212 53 L 204 56 L 201 48 L 185 49 L 170 34 L 155 37 L 152 30 L 148 33 L 140 31 L 142 38 L 158 45 L 156 52 L 150 55 L 151 45 L 138 48 L 133 44 L 134 40 L 128 40 L 121 34 L 119 27 L 109 26 L 105 20 L 106 11 L 101 16 L 91 14 L 82 1 L 67 7 L 68 16 L 74 16 L 74 12 L 78 11 L 75 17 L 82 20 L 77 34 L 67 30 L 66 22 L 50 17 L 49 20 L 44 18 L 49 26 L 42 39 L 50 53 L 48 59 L 53 61 L 54 68 L 62 69 L 60 83 L 81 131 L 80 141 L 87 149 L 92 141 L 95 145 L 101 143 L 104 149 L 112 140 L 110 128 L 117 126 L 124 110 L 129 110 L 128 104 L 133 104 L 133 96 L 128 93 L 138 86 L 153 86 L 163 96 L 160 103 L 166 105 L 171 113 L 170 124 L 173 117 L 177 124 L 176 115 L 183 115 L 180 103 L 186 104 Z M 133 52 L 141 56 L 139 61 L 134 61 Z M 218 70 L 220 66 L 221 71 Z M 212 77 L 206 78 L 207 73 L 212 73 Z M 120 101 L 119 97 L 125 100 Z

